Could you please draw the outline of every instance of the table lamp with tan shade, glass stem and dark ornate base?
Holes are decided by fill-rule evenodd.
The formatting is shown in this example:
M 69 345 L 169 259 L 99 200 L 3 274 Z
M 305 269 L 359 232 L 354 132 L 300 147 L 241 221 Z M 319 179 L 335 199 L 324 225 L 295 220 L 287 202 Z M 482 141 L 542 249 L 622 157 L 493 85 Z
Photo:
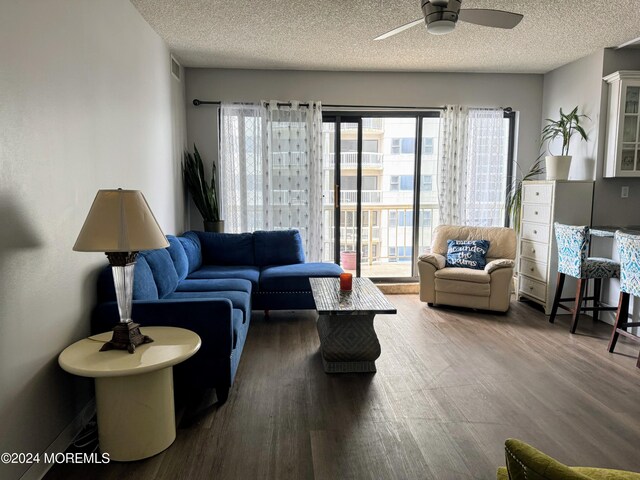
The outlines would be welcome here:
M 78 235 L 76 252 L 105 252 L 118 300 L 120 323 L 104 350 L 128 350 L 153 340 L 140 333 L 140 325 L 131 320 L 133 270 L 140 250 L 167 248 L 164 236 L 147 201 L 139 190 L 98 190 L 91 210 Z

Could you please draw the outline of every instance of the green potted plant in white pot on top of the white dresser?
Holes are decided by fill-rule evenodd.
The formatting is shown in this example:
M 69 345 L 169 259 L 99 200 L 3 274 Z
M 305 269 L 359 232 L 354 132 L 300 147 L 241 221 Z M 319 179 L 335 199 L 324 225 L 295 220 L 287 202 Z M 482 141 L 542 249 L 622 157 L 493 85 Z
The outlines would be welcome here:
M 569 178 L 569 169 L 571 168 L 569 144 L 571 143 L 571 137 L 577 133 L 582 140 L 587 140 L 587 133 L 580 125 L 581 118 L 589 117 L 579 115 L 578 107 L 576 106 L 569 113 L 564 113 L 561 108 L 558 120 L 546 119 L 547 124 L 542 129 L 542 142 L 551 142 L 558 137 L 562 138 L 561 155 L 547 155 L 545 157 L 547 180 L 567 180 Z

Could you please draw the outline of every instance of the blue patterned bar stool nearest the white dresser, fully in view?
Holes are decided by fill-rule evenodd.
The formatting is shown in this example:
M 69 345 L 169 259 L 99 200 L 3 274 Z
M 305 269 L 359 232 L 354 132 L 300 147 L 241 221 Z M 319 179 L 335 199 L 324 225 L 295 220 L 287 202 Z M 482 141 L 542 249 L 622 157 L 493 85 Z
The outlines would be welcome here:
M 558 244 L 558 281 L 549 321 L 553 323 L 556 319 L 558 308 L 569 310 L 572 314 L 571 333 L 575 333 L 580 311 L 594 312 L 593 318 L 597 320 L 598 312 L 616 310 L 616 307 L 603 307 L 600 304 L 600 290 L 603 278 L 620 276 L 620 264 L 610 258 L 587 257 L 590 241 L 589 227 L 576 227 L 556 222 L 554 228 Z M 578 279 L 575 299 L 562 298 L 562 288 L 567 275 Z M 587 281 L 590 279 L 594 280 L 593 297 L 585 297 Z M 573 308 L 562 305 L 562 302 L 571 300 L 574 300 Z M 582 307 L 582 302 L 587 300 L 593 301 L 592 307 Z

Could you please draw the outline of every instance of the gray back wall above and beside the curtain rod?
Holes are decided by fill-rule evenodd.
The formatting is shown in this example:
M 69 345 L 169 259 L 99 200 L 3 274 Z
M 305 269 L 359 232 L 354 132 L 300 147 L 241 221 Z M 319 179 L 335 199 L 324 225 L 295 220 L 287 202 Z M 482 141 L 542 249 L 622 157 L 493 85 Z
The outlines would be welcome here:
M 527 171 L 536 159 L 542 75 L 460 73 L 306 72 L 187 69 L 187 131 L 205 159 L 217 159 L 217 109 L 194 107 L 194 98 L 258 102 L 320 100 L 323 104 L 376 106 L 510 106 L 520 112 L 516 160 Z M 202 220 L 195 211 L 194 228 Z

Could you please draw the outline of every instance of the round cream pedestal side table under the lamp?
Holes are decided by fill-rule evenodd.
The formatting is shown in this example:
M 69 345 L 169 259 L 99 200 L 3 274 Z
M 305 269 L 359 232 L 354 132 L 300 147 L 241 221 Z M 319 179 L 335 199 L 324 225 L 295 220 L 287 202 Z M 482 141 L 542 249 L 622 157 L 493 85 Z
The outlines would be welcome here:
M 173 365 L 200 349 L 200 337 L 174 327 L 142 327 L 153 343 L 100 352 L 111 332 L 67 347 L 58 357 L 69 373 L 95 378 L 100 450 L 111 460 L 151 457 L 176 438 Z

